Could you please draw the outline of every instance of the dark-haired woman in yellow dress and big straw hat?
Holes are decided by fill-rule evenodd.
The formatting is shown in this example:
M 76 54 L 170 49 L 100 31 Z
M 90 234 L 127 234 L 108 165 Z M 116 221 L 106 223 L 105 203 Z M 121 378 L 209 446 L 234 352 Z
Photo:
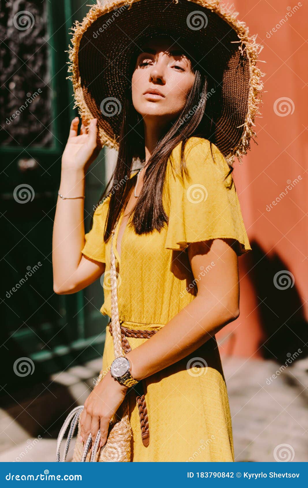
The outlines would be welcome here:
M 192 2 L 184 3 L 191 10 L 188 3 Z M 142 15 L 138 8 L 135 20 Z M 204 10 L 209 22 L 214 13 Z M 187 19 L 186 11 L 182 13 Z M 91 36 L 93 41 L 93 32 L 99 32 L 96 22 L 103 22 L 106 15 L 110 12 L 102 6 L 92 7 L 87 23 L 82 24 L 86 28 L 79 26 L 75 35 L 80 40 Z M 181 24 L 179 16 L 177 19 Z M 81 77 L 77 80 L 82 84 L 87 78 L 88 86 L 82 95 L 76 84 L 74 89 L 84 120 L 80 135 L 79 119 L 72 121 L 63 152 L 53 233 L 55 292 L 75 293 L 104 273 L 101 312 L 109 316 L 113 246 L 119 320 L 122 338 L 128 341 L 128 369 L 123 374 L 122 366 L 115 366 L 112 327 L 108 324 L 103 377 L 84 404 L 80 441 L 91 433 L 94 442 L 100 430 L 103 446 L 109 421 L 127 395 L 134 462 L 234 461 L 226 383 L 215 334 L 239 316 L 238 256 L 251 248 L 232 181 L 233 168 L 224 155 L 245 152 L 251 127 L 246 123 L 243 129 L 242 124 L 239 140 L 239 121 L 233 121 L 232 114 L 226 117 L 227 61 L 213 63 L 212 70 L 204 68 L 200 62 L 204 51 L 198 51 L 200 37 L 196 35 L 191 42 L 192 35 L 185 37 L 184 32 L 178 43 L 166 31 L 147 31 L 131 56 L 125 56 L 126 88 L 122 99 L 116 97 L 123 110 L 113 173 L 118 185 L 101 199 L 86 235 L 84 175 L 102 145 L 115 146 L 110 134 L 111 128 L 117 134 L 117 122 L 102 108 L 102 95 L 99 98 L 91 89 L 85 64 L 82 71 L 82 60 L 89 56 L 86 49 L 92 47 L 79 40 L 79 52 L 75 52 L 79 54 Z M 216 48 L 212 50 L 216 52 Z M 95 80 L 95 73 L 90 79 Z M 119 81 L 119 93 L 120 85 Z M 239 99 L 245 97 L 244 92 L 239 92 Z M 99 117 L 93 118 L 99 112 L 89 103 L 89 93 L 101 109 Z M 89 107 L 92 118 L 88 117 Z M 255 105 L 248 109 L 246 105 L 242 117 L 244 113 L 247 116 L 247 110 L 251 115 L 255 109 Z M 223 128 L 222 113 L 226 122 Z M 233 132 L 227 124 L 233 124 Z M 142 167 L 131 172 L 134 158 L 140 158 Z

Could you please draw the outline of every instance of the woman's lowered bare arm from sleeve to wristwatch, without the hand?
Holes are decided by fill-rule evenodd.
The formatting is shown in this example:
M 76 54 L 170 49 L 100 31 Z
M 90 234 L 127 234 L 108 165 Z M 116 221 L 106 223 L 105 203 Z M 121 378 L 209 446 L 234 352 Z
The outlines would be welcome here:
M 232 247 L 222 239 L 213 240 L 210 248 L 207 243 L 189 244 L 188 257 L 198 294 L 149 340 L 127 353 L 136 380 L 181 360 L 239 316 L 238 257 Z

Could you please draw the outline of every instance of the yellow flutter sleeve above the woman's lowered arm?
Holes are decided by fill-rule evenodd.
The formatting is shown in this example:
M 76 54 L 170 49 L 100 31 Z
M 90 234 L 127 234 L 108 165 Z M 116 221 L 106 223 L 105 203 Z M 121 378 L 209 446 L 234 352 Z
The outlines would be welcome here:
M 167 164 L 165 185 L 168 228 L 165 248 L 183 250 L 188 244 L 211 239 L 235 239 L 240 256 L 251 250 L 239 199 L 229 166 L 219 149 L 202 138 L 192 137 L 185 146 L 187 172 L 180 171 L 180 146 Z

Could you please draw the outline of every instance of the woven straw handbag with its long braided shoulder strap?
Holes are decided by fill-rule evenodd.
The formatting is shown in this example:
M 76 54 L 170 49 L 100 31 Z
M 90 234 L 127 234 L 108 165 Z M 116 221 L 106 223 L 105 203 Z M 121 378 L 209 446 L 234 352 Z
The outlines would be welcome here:
M 124 356 L 124 351 L 122 347 L 122 336 L 121 336 L 121 326 L 119 321 L 119 310 L 118 310 L 118 295 L 117 295 L 117 274 L 116 274 L 116 262 L 115 255 L 113 251 L 113 238 L 115 229 L 118 221 L 116 222 L 112 232 L 111 232 L 111 264 L 110 264 L 110 280 L 111 280 L 111 324 L 112 324 L 112 338 L 114 346 L 114 356 L 118 358 Z M 103 372 L 99 376 L 99 382 L 103 378 Z M 76 427 L 78 425 L 77 439 L 80 436 L 80 421 L 79 417 L 83 410 L 83 406 L 75 407 L 66 417 L 62 428 L 59 432 L 58 442 L 57 442 L 57 456 L 56 461 L 60 462 L 60 447 L 66 432 L 67 427 L 70 425 L 64 452 L 62 455 L 62 462 L 65 462 L 67 452 L 71 439 L 74 435 Z M 74 454 L 73 462 L 130 462 L 130 442 L 132 437 L 132 428 L 128 418 L 128 399 L 125 396 L 122 405 L 119 407 L 118 411 L 121 412 L 121 420 L 116 421 L 115 415 L 112 417 L 108 429 L 108 436 L 105 445 L 98 452 L 98 445 L 100 442 L 100 431 L 98 431 L 94 446 L 92 447 L 92 452 L 90 447 L 92 445 L 91 434 L 84 446 L 81 442 L 77 441 Z

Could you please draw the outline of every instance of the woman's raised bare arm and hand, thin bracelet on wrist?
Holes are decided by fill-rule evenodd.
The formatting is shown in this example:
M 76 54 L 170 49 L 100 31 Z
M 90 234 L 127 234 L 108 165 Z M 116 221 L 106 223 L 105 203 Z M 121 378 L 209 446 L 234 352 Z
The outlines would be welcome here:
M 82 123 L 79 136 L 78 123 L 78 117 L 71 122 L 62 155 L 59 191 L 64 197 L 84 195 L 86 170 L 101 149 L 96 119 L 91 120 L 88 133 Z M 105 270 L 104 263 L 82 255 L 85 242 L 83 209 L 84 199 L 63 200 L 58 196 L 52 239 L 54 291 L 58 294 L 81 290 L 93 283 Z

